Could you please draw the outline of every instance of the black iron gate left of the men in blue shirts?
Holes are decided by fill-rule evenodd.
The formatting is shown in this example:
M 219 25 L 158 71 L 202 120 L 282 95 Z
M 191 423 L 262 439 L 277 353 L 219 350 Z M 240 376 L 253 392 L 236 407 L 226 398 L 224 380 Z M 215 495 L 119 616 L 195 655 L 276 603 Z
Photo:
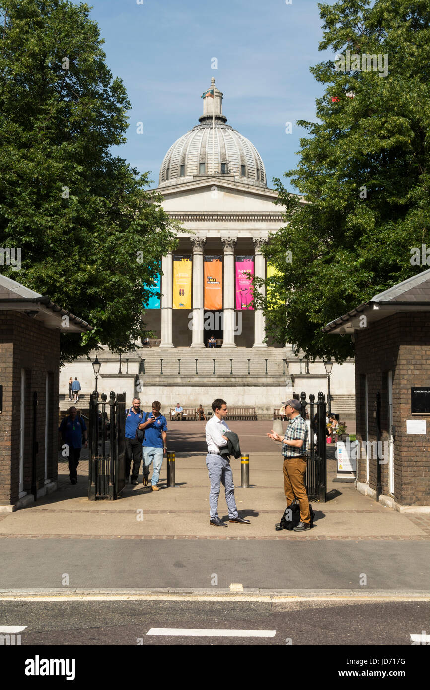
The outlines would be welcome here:
M 126 484 L 126 393 L 90 396 L 88 498 L 115 501 Z

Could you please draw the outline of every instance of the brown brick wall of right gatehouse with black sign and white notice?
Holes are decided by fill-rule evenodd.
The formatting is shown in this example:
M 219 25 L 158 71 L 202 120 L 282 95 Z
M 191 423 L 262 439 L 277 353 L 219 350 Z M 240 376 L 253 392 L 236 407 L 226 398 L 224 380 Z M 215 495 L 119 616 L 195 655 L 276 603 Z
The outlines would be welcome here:
M 401 505 L 430 504 L 430 416 L 411 416 L 411 386 L 430 386 L 430 312 L 396 314 L 355 332 L 355 421 L 366 440 L 365 387 L 369 392 L 369 441 L 376 440 L 376 393 L 381 394 L 381 440 L 388 440 L 388 372 L 393 372 L 394 498 Z M 406 421 L 427 420 L 427 435 L 406 433 Z M 378 460 L 369 460 L 369 486 L 376 489 Z M 367 481 L 366 460 L 358 480 Z M 389 495 L 389 464 L 381 465 L 382 493 Z

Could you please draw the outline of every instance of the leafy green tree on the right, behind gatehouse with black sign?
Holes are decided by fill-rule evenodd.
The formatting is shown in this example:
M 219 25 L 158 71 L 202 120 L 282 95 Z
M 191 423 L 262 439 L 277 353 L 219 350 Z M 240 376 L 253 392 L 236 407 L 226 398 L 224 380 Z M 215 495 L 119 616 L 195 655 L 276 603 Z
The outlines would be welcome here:
M 319 48 L 333 60 L 311 68 L 326 89 L 318 121 L 297 123 L 310 137 L 285 173 L 303 198 L 274 179 L 289 224 L 266 246 L 280 273 L 266 281 L 269 335 L 338 362 L 353 355 L 351 340 L 322 326 L 427 268 L 411 263 L 412 248 L 430 246 L 429 2 L 369 5 L 319 5 Z M 347 50 L 360 62 L 348 65 Z

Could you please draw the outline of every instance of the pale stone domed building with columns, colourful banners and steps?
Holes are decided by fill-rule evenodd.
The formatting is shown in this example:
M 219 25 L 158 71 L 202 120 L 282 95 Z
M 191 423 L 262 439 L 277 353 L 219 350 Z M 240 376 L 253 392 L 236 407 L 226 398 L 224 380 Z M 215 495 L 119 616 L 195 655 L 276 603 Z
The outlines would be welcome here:
M 327 377 L 322 362 L 309 364 L 292 346 L 266 339 L 249 275 L 265 278 L 270 270 L 262 247 L 284 226 L 282 207 L 274 204 L 277 192 L 267 186 L 257 148 L 228 124 L 215 79 L 202 99 L 203 114 L 168 149 L 154 190 L 184 228 L 175 251 L 162 258 L 160 282 L 144 311 L 154 337 L 122 361 L 98 352 L 99 391 L 125 390 L 128 402 L 138 393 L 144 409 L 160 400 L 166 415 L 177 402 L 208 410 L 221 395 L 229 406 L 272 419 L 293 391 L 326 393 Z M 353 364 L 339 370 L 333 366 L 331 391 L 352 416 Z M 64 370 L 64 386 L 69 372 L 92 391 L 88 360 Z

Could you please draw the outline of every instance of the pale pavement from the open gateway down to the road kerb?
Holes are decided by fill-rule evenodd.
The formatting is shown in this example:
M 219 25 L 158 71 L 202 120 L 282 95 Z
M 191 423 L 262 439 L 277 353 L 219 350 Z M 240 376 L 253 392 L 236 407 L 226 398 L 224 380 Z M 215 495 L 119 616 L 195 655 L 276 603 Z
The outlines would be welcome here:
M 0 590 L 143 587 L 214 593 L 229 591 L 232 583 L 258 591 L 430 590 L 429 515 L 398 513 L 356 492 L 351 483 L 333 482 L 334 449 L 328 446 L 327 502 L 313 502 L 313 529 L 277 532 L 286 502 L 280 444 L 265 435 L 271 422 L 231 426 L 250 455 L 249 489 L 239 486 L 240 460 L 231 465 L 237 507 L 251 524 L 228 523 L 228 529 L 209 524 L 204 424 L 170 422 L 175 488 L 166 487 L 164 461 L 157 493 L 139 483 L 127 485 L 117 501 L 90 502 L 88 453 L 83 453 L 76 486 L 61 458 L 57 492 L 26 509 L 1 513 Z M 228 518 L 222 494 L 219 515 Z

